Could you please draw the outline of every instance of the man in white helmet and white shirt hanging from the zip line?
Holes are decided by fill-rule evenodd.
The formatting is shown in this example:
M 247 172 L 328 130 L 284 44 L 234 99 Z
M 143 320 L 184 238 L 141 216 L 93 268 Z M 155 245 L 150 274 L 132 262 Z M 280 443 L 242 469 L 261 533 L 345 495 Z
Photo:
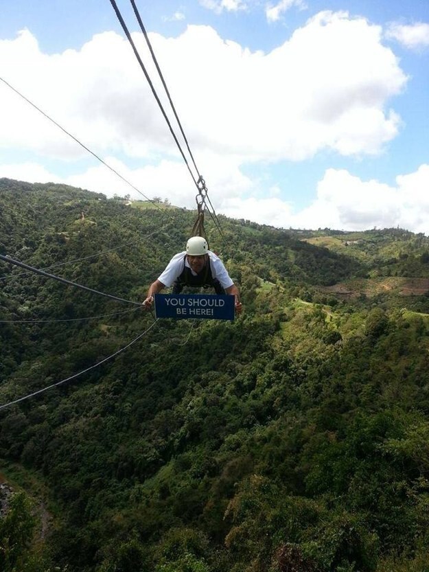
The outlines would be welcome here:
M 222 260 L 209 250 L 207 240 L 202 236 L 189 238 L 186 250 L 173 256 L 159 278 L 150 284 L 143 306 L 150 308 L 154 294 L 171 286 L 173 294 L 181 293 L 184 286 L 211 287 L 216 294 L 232 294 L 235 296 L 235 312 L 240 314 L 242 311 L 240 290 L 229 277 Z

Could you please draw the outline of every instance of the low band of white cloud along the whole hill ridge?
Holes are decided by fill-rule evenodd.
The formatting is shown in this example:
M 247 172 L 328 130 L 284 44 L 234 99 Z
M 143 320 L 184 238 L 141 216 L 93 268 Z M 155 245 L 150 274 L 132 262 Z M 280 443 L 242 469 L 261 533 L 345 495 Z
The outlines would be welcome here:
M 106 162 L 148 198 L 161 196 L 172 204 L 195 209 L 196 188 L 183 164 L 161 161 L 157 165 L 130 170 L 115 157 Z M 258 183 L 248 179 L 232 161 L 205 157 L 203 161 L 209 197 L 218 214 L 244 218 L 280 228 L 364 230 L 373 227 L 402 227 L 429 235 L 429 164 L 413 173 L 398 175 L 396 185 L 375 179 L 362 181 L 347 170 L 327 169 L 318 182 L 314 202 L 301 211 L 283 201 L 277 187 L 261 194 Z M 208 168 L 211 165 L 211 168 Z M 59 177 L 36 163 L 0 165 L 0 177 L 30 182 L 65 183 L 102 192 L 106 196 L 143 196 L 102 165 L 81 174 Z

